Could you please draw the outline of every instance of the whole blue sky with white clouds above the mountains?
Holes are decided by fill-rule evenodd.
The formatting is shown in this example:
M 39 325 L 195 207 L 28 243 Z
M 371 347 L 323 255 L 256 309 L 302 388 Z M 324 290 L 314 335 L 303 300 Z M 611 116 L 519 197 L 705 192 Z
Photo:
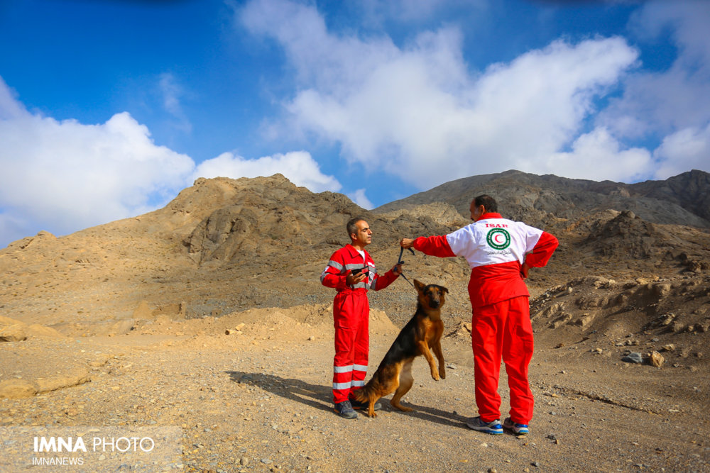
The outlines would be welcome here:
M 0 246 L 285 174 L 710 172 L 708 1 L 0 0 Z

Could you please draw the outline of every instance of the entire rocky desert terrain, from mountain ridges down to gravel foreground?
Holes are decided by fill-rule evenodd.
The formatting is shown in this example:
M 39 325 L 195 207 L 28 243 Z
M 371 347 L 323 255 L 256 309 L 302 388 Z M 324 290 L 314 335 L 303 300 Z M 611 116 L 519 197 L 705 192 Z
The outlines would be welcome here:
M 159 427 L 162 439 L 170 426 L 177 449 L 150 457 L 161 470 L 707 471 L 707 190 L 696 171 L 632 185 L 510 171 L 365 211 L 278 174 L 197 179 L 157 211 L 18 240 L 0 250 L 0 470 L 41 456 L 26 442 L 38 428 L 97 425 L 116 437 Z M 449 288 L 447 378 L 415 361 L 414 411 L 383 399 L 353 428 L 332 413 L 334 291 L 319 279 L 346 221 L 368 220 L 385 271 L 399 238 L 468 224 L 482 192 L 560 241 L 527 280 L 530 434 L 491 443 L 464 426 L 476 415 L 469 268 L 421 254 L 405 274 Z M 373 368 L 415 296 L 400 279 L 369 299 Z M 422 432 L 436 435 L 424 445 Z M 82 471 L 146 467 L 114 453 L 84 455 Z

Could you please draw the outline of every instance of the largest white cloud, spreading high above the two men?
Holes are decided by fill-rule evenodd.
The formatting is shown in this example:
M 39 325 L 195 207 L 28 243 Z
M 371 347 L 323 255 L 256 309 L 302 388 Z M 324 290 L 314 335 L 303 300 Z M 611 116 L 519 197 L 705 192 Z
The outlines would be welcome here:
M 337 142 L 346 160 L 422 189 L 511 168 L 575 169 L 579 150 L 564 150 L 596 113 L 594 99 L 618 87 L 638 59 L 623 38 L 558 40 L 475 72 L 454 27 L 399 48 L 386 37 L 330 33 L 315 8 L 287 0 L 251 1 L 241 21 L 277 40 L 295 68 L 295 94 L 285 106 L 294 135 Z M 605 156 L 616 150 L 609 159 L 618 169 L 643 171 L 635 167 L 638 150 L 605 133 Z M 584 149 L 594 141 L 579 140 Z

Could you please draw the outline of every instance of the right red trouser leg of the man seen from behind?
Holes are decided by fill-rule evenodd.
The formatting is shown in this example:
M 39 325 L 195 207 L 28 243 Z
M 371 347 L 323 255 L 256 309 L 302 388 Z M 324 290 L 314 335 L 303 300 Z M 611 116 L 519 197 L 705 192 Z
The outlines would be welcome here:
M 510 389 L 510 419 L 528 424 L 535 404 L 528 381 L 528 365 L 534 347 L 530 301 L 527 296 L 520 296 L 506 302 L 508 319 L 503 333 L 503 362 L 506 363 Z

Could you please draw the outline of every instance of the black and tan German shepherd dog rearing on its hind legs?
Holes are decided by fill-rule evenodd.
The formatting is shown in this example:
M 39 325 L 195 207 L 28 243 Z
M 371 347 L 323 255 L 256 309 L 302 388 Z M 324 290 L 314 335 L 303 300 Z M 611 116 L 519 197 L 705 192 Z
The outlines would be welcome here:
M 432 378 L 436 381 L 439 381 L 439 377 L 446 378 L 441 345 L 444 333 L 441 308 L 444 305 L 444 294 L 447 294 L 449 289 L 436 284 L 425 286 L 416 279 L 414 286 L 418 293 L 417 311 L 395 338 L 372 379 L 354 393 L 357 401 L 369 402 L 367 414 L 370 417 L 377 417 L 374 409 L 376 401 L 392 393 L 395 393 L 390 401 L 392 406 L 400 411 L 412 411 L 412 408 L 402 406 L 400 399 L 414 383 L 412 362 L 416 357 L 424 355 L 432 370 Z M 438 370 L 430 349 L 439 361 Z

